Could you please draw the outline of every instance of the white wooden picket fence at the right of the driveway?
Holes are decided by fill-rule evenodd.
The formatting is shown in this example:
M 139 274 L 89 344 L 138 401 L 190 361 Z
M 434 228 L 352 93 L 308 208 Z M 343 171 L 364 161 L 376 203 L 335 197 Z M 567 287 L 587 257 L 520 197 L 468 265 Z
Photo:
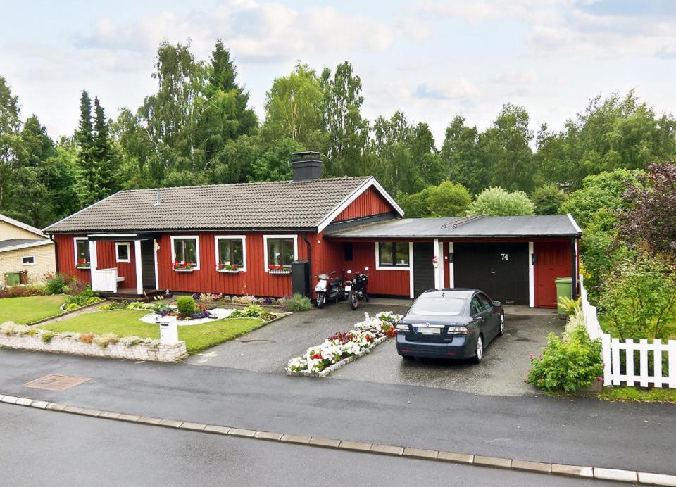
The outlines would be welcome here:
M 604 386 L 621 386 L 624 383 L 627 386 L 676 388 L 676 340 L 669 340 L 668 343 L 653 340 L 649 343 L 646 339 L 634 342 L 634 339 L 620 341 L 613 338 L 610 334 L 603 333 L 596 316 L 596 306 L 590 305 L 587 300 L 587 290 L 584 289 L 582 276 L 580 276 L 580 298 L 589 338 L 601 339 Z M 635 356 L 635 352 L 638 352 L 638 357 Z M 662 366 L 665 357 L 668 365 L 666 376 L 663 374 Z M 622 367 L 621 358 L 625 359 L 625 367 Z M 652 370 L 649 367 L 651 360 Z

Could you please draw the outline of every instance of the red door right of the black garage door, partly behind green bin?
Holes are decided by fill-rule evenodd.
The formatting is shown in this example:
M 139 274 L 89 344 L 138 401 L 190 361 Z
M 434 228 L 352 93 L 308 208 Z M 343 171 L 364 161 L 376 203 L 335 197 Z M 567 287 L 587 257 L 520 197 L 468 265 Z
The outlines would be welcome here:
M 556 308 L 557 277 L 570 277 L 570 242 L 535 242 L 535 305 Z

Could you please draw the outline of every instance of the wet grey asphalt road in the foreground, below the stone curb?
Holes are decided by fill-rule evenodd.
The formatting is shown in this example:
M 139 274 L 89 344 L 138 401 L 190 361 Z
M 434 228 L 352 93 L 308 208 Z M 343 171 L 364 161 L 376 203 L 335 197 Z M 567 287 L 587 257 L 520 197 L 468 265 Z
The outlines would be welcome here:
M 603 486 L 598 481 L 382 457 L 0 405 L 12 486 Z M 609 485 L 609 484 L 605 484 Z

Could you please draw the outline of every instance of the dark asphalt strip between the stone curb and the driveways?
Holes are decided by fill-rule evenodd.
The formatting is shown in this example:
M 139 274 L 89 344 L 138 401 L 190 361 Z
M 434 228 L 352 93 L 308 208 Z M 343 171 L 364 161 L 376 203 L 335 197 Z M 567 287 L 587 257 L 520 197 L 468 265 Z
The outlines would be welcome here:
M 92 380 L 64 392 L 23 385 L 51 373 Z M 672 404 L 475 396 L 399 384 L 18 350 L 0 350 L 0 391 L 263 431 L 676 474 Z

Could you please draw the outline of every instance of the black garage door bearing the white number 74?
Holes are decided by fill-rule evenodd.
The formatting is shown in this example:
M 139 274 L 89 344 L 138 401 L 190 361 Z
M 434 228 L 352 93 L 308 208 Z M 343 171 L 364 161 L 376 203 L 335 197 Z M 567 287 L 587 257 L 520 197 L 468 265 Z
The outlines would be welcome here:
M 503 303 L 528 305 L 528 244 L 454 243 L 453 285 L 481 289 Z

